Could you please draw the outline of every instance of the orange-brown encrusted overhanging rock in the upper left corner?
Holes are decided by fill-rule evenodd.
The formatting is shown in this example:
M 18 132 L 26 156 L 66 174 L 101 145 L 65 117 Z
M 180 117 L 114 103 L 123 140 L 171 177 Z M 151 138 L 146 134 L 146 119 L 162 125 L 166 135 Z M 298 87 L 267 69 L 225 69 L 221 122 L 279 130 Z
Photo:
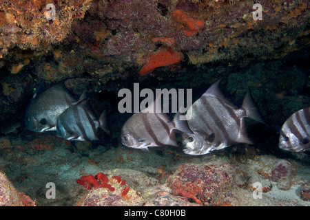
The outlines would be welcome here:
M 48 4 L 36 0 L 1 0 L 0 58 L 13 47 L 45 50 L 63 41 L 70 32 L 73 19 L 84 17 L 90 1 L 52 1 Z

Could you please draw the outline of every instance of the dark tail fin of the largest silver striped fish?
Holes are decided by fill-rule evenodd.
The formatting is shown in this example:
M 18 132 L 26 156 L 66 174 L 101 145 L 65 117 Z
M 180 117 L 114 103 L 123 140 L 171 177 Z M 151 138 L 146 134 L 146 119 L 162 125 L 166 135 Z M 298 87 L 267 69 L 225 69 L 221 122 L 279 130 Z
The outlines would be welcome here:
M 247 94 L 245 95 L 245 99 L 242 102 L 242 108 L 245 109 L 245 117 L 249 117 L 254 119 L 262 124 L 266 124 L 264 120 L 262 120 L 262 116 L 260 115 L 260 111 L 254 102 L 251 92 L 249 89 L 247 90 Z

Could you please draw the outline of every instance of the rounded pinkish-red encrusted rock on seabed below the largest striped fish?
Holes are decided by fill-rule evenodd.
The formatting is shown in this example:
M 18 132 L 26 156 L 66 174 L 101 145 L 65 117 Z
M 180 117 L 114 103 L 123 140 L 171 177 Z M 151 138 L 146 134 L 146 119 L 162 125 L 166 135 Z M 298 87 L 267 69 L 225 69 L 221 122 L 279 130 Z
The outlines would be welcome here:
M 167 184 L 172 188 L 173 195 L 187 197 L 198 204 L 223 205 L 225 192 L 228 192 L 233 179 L 233 168 L 218 161 L 207 164 L 183 164 L 169 177 Z

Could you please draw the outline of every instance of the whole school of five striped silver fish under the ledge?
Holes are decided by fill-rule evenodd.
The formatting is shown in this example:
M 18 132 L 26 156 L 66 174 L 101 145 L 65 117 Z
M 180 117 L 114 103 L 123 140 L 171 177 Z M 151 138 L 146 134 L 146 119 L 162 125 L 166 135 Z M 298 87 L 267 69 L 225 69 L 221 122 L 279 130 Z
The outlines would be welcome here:
M 149 153 L 151 146 L 178 146 L 176 131 L 180 131 L 183 152 L 189 155 L 205 155 L 234 144 L 254 145 L 247 135 L 245 118 L 265 122 L 250 91 L 238 108 L 225 98 L 219 85 L 217 80 L 187 109 L 189 114 L 185 116 L 191 117 L 186 120 L 180 120 L 179 112 L 172 120 L 163 111 L 153 111 L 161 106 L 156 98 L 147 109 L 134 113 L 125 122 L 121 129 L 122 144 Z M 30 131 L 56 131 L 57 136 L 70 141 L 99 140 L 99 129 L 111 135 L 105 111 L 96 117 L 85 92 L 75 100 L 64 81 L 41 93 L 38 90 L 25 111 L 25 127 Z M 296 111 L 285 121 L 279 148 L 310 151 L 310 107 Z

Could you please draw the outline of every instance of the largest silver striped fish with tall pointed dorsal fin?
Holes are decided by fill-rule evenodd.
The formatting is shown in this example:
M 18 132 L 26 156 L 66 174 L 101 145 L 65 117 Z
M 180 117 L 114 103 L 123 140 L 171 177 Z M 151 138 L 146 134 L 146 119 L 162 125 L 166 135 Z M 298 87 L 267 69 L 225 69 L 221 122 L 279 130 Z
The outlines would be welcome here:
M 247 92 L 242 107 L 229 102 L 216 81 L 205 94 L 189 107 L 192 118 L 187 120 L 194 134 L 182 134 L 183 152 L 189 155 L 205 155 L 233 144 L 253 144 L 247 137 L 245 117 L 262 122 L 251 94 Z

